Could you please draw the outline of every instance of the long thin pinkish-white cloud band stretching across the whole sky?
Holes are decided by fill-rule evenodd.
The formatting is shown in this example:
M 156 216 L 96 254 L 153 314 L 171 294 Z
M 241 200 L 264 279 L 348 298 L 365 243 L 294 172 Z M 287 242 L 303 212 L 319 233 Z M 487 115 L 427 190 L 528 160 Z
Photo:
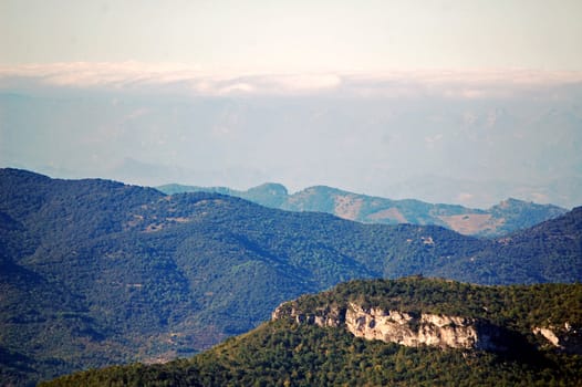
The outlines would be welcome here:
M 0 66 L 0 90 L 111 88 L 208 96 L 340 93 L 356 97 L 507 97 L 582 84 L 582 71 L 474 70 L 375 73 L 237 73 L 181 63 L 71 62 Z

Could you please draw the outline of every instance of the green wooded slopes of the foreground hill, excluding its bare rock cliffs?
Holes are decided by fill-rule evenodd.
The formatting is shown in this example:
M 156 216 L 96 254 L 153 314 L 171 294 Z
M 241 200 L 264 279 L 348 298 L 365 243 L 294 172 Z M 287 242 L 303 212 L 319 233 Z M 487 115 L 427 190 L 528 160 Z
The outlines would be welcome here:
M 355 281 L 288 306 L 316 314 L 364 302 L 418 313 L 472 316 L 511 333 L 503 351 L 407 347 L 354 337 L 344 327 L 266 323 L 190 359 L 115 366 L 43 386 L 580 386 L 582 356 L 552 347 L 533 326 L 570 326 L 582 349 L 582 285 L 476 286 L 410 278 Z M 551 322 L 551 323 L 550 323 Z M 554 328 L 560 335 L 559 328 Z M 578 330 L 578 331 L 576 331 Z M 572 332 L 578 332 L 572 334 Z M 564 333 L 565 334 L 565 333 Z

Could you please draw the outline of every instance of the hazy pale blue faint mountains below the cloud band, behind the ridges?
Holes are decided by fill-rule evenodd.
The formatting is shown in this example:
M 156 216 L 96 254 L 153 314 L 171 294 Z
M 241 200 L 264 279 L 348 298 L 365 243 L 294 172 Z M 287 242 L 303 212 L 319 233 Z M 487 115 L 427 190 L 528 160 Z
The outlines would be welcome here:
M 488 98 L 27 88 L 0 94 L 0 165 L 143 186 L 280 181 L 471 208 L 508 197 L 573 208 L 579 95 L 578 85 Z

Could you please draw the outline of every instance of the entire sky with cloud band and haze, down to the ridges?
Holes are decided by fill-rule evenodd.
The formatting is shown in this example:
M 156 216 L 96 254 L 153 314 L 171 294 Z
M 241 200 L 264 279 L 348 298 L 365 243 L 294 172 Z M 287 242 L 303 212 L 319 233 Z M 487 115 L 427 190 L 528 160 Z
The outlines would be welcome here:
M 580 1 L 0 0 L 0 166 L 582 203 Z

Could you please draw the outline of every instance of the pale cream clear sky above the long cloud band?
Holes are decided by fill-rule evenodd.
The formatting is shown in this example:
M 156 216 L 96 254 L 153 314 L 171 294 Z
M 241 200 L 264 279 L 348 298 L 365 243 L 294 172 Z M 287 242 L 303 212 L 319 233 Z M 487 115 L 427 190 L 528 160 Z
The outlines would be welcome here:
M 582 1 L 0 0 L 0 64 L 582 70 Z

